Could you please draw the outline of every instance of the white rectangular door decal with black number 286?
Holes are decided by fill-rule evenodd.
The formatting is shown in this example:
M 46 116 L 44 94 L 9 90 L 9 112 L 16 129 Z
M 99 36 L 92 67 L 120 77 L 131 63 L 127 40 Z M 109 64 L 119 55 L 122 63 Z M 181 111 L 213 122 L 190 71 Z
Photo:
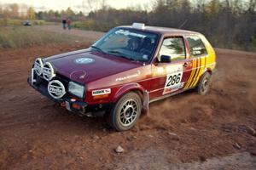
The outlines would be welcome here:
M 183 87 L 183 65 L 172 65 L 167 70 L 166 85 L 163 94 L 172 93 Z

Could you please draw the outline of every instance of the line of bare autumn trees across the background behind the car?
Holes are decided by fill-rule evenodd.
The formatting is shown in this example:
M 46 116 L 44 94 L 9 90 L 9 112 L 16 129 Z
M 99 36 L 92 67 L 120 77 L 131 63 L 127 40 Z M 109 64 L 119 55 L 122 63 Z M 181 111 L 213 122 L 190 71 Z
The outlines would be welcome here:
M 27 7 L 20 15 L 19 6 L 0 7 L 0 18 L 28 18 L 61 22 L 66 17 L 80 29 L 108 31 L 114 26 L 143 22 L 148 26 L 164 26 L 199 31 L 215 47 L 256 51 L 256 0 L 152 0 L 153 5 L 116 9 L 105 0 L 87 0 L 88 14 L 72 8 L 35 11 Z M 99 5 L 100 4 L 100 5 Z

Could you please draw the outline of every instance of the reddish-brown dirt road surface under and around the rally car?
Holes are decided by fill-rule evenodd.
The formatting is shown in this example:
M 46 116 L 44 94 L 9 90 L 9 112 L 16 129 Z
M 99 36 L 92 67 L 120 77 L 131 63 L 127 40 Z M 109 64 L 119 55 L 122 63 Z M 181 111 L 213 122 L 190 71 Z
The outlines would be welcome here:
M 80 117 L 26 82 L 33 60 L 86 48 L 0 52 L 0 169 L 255 169 L 256 54 L 217 49 L 206 96 L 190 91 L 153 103 L 131 131 Z M 125 152 L 115 153 L 118 146 Z

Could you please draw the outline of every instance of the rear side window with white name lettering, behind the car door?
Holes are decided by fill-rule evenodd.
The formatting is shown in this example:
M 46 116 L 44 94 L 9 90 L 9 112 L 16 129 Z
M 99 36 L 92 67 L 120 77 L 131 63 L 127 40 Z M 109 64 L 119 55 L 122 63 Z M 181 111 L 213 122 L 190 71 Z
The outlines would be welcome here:
M 189 42 L 190 54 L 192 57 L 207 55 L 207 48 L 200 37 L 191 36 L 187 37 L 187 40 Z

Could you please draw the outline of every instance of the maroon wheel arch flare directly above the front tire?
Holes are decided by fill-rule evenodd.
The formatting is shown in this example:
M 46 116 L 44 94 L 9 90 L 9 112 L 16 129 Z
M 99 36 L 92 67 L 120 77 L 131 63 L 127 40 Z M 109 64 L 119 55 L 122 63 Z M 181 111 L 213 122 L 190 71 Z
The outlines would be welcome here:
M 117 102 L 117 100 L 121 96 L 123 96 L 124 94 L 128 93 L 131 90 L 139 90 L 142 94 L 144 94 L 145 92 L 144 88 L 138 83 L 126 84 L 125 86 L 119 88 L 116 94 L 114 94 L 113 103 Z

